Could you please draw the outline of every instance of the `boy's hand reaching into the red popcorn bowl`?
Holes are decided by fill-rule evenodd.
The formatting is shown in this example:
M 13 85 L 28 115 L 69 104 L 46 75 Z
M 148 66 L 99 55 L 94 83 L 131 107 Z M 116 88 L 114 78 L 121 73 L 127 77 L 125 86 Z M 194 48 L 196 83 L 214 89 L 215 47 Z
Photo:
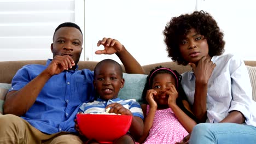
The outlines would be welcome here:
M 132 116 L 132 113 L 130 110 L 126 109 L 123 105 L 119 103 L 112 103 L 106 106 L 106 109 L 110 107 L 109 113 L 116 113 L 121 115 L 130 115 Z

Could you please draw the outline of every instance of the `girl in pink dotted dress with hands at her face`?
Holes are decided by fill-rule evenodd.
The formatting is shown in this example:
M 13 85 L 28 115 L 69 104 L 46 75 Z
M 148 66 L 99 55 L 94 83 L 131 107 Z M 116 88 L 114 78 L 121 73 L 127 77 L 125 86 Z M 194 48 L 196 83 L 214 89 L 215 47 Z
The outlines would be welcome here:
M 144 132 L 139 143 L 175 143 L 196 125 L 176 70 L 156 67 L 147 77 L 142 96 Z

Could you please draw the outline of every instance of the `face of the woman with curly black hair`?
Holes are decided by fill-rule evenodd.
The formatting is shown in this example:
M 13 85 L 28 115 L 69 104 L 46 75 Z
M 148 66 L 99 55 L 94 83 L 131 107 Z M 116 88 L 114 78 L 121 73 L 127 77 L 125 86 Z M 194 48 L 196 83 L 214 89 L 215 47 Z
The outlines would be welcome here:
M 207 40 L 194 28 L 191 28 L 188 35 L 180 41 L 179 50 L 185 61 L 189 63 L 197 64 L 203 56 L 210 58 Z

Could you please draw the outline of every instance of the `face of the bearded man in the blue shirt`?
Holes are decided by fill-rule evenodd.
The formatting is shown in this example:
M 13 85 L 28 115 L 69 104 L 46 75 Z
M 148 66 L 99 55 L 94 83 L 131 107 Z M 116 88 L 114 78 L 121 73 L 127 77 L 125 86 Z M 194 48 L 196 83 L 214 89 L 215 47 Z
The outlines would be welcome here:
M 58 29 L 51 44 L 53 57 L 56 55 L 69 55 L 77 64 L 83 50 L 83 35 L 74 27 L 61 27 Z

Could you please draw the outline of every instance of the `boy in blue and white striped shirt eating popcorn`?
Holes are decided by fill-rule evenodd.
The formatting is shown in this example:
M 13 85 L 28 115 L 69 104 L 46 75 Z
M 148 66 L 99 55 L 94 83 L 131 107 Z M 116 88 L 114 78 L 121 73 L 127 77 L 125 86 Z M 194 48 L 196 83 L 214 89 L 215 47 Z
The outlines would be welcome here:
M 84 103 L 79 107 L 83 113 L 109 113 L 131 115 L 130 135 L 121 136 L 115 143 L 135 143 L 143 133 L 143 112 L 135 99 L 122 100 L 118 98 L 120 88 L 124 87 L 123 69 L 118 62 L 104 59 L 94 69 L 94 88 L 97 100 Z

